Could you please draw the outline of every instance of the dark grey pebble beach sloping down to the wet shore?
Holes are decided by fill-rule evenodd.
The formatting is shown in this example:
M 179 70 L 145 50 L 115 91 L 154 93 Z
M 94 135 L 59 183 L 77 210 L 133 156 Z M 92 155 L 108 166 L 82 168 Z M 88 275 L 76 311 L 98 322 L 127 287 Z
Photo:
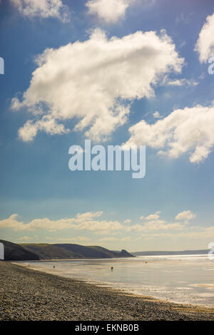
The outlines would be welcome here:
M 175 304 L 0 262 L 0 320 L 214 320 L 214 309 Z

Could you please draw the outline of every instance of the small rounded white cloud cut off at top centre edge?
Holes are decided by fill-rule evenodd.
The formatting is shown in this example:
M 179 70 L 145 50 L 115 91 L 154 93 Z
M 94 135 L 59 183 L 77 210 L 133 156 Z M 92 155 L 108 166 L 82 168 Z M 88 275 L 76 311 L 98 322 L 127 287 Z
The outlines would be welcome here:
M 88 14 L 96 15 L 101 21 L 112 24 L 123 19 L 126 9 L 135 2 L 136 0 L 89 0 L 86 6 Z

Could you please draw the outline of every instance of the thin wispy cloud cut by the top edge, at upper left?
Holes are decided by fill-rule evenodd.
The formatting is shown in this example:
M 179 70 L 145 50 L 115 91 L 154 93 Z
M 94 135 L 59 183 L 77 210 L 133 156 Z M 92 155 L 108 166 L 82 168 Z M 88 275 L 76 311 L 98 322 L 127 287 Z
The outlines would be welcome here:
M 68 6 L 61 0 L 10 0 L 20 14 L 33 18 L 39 16 L 43 19 L 56 17 L 65 22 L 69 19 Z

